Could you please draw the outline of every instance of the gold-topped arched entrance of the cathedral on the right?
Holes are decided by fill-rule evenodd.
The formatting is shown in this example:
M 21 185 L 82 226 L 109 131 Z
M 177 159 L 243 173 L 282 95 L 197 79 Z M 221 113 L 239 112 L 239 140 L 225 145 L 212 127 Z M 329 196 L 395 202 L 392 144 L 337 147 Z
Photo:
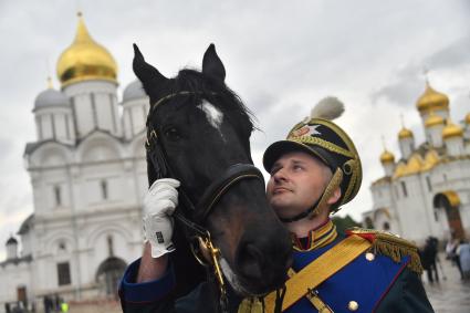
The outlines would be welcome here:
M 464 238 L 462 220 L 460 219 L 459 195 L 456 191 L 443 191 L 435 196 L 432 204 L 436 209 L 443 209 L 446 211 L 449 229 L 453 237 L 459 239 Z

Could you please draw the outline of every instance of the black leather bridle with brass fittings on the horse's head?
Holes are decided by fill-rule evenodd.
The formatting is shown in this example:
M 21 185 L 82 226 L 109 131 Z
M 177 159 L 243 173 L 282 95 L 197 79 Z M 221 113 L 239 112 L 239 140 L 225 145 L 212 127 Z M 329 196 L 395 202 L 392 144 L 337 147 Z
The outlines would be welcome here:
M 217 93 L 210 94 L 217 95 Z M 159 129 L 154 129 L 150 125 L 150 116 L 159 105 L 180 95 L 203 96 L 203 93 L 181 91 L 164 96 L 150 106 L 150 111 L 147 116 L 147 140 L 145 143 L 145 148 L 147 154 L 153 156 L 148 158 L 147 161 L 152 161 L 156 173 L 156 179 L 165 177 L 178 179 L 178 177 L 175 175 L 169 163 L 165 146 L 159 137 Z M 178 206 L 178 209 L 174 215 L 174 217 L 185 226 L 185 234 L 190 243 L 195 258 L 202 265 L 212 268 L 213 274 L 219 284 L 220 306 L 222 312 L 227 311 L 227 291 L 219 264 L 221 253 L 220 249 L 212 243 L 209 230 L 207 230 L 202 225 L 220 198 L 232 186 L 243 179 L 260 179 L 262 184 L 264 184 L 263 175 L 252 164 L 236 164 L 230 166 L 219 178 L 211 181 L 196 206 L 188 197 L 186 187 L 181 185 L 179 188 L 179 198 L 182 206 Z

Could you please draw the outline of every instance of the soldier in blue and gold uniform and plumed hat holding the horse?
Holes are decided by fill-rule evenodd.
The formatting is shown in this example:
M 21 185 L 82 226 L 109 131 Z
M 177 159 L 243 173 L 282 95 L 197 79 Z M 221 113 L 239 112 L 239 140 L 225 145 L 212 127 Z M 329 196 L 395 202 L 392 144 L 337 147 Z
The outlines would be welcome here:
M 342 112 L 343 104 L 336 98 L 322 101 L 285 140 L 265 150 L 263 165 L 271 175 L 268 199 L 292 233 L 293 265 L 282 291 L 244 300 L 232 296 L 229 307 L 237 309 L 231 312 L 434 312 L 419 278 L 421 265 L 415 246 L 390 233 L 364 229 L 338 234 L 330 219 L 356 196 L 362 181 L 353 142 L 327 119 Z M 173 199 L 171 206 L 176 205 L 175 186 L 160 187 L 161 195 L 168 195 L 164 198 Z M 164 207 L 161 211 L 168 211 Z M 125 312 L 154 312 L 152 307 L 163 306 L 156 303 L 167 301 L 165 294 L 173 288 L 168 267 L 158 264 L 161 258 L 149 258 L 149 249 L 147 243 L 140 271 L 130 268 L 121 284 Z M 165 250 L 165 246 L 152 249 Z M 132 281 L 137 274 L 144 283 Z M 196 309 L 201 298 L 194 293 L 184 305 L 180 301 L 179 307 L 206 312 Z M 132 301 L 140 303 L 133 306 Z M 171 312 L 179 312 L 177 307 Z

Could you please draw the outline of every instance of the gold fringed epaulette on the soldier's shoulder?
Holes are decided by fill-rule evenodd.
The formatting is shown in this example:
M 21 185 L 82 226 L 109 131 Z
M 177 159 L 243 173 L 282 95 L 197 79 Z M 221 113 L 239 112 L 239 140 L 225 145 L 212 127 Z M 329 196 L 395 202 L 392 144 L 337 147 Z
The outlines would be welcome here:
M 407 265 L 408 269 L 418 274 L 422 273 L 422 265 L 419 259 L 418 248 L 408 240 L 400 238 L 398 234 L 394 234 L 388 231 L 358 227 L 346 230 L 346 236 L 352 234 L 367 239 L 372 243 L 370 250 L 374 253 L 387 255 L 395 262 L 401 261 L 403 257 L 409 257 L 410 261 Z

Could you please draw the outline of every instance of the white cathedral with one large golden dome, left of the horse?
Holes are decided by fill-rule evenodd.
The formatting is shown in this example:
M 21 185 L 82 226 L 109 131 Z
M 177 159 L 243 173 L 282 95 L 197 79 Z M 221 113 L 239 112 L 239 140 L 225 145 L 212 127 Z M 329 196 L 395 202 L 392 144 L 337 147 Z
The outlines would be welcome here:
M 24 150 L 34 212 L 0 262 L 0 312 L 9 302 L 42 306 L 114 296 L 124 268 L 143 248 L 142 198 L 148 188 L 145 119 L 138 81 L 119 102 L 117 65 L 79 14 L 76 35 L 52 83 L 34 101 L 36 142 Z M 119 108 L 121 106 L 121 108 Z

